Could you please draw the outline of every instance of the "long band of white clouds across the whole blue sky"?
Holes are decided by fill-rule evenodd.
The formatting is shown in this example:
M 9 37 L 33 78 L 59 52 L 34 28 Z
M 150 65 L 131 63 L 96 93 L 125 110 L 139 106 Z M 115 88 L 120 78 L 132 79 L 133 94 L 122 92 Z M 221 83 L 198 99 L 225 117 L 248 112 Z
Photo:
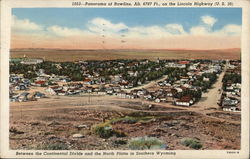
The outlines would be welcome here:
M 52 25 L 47 28 L 36 24 L 29 19 L 18 19 L 12 16 L 12 29 L 18 33 L 32 33 L 41 36 L 99 36 L 102 33 L 112 38 L 121 38 L 125 35 L 126 38 L 139 39 L 160 39 L 176 36 L 235 36 L 241 34 L 241 25 L 228 24 L 218 30 L 212 30 L 213 25 L 217 19 L 211 16 L 202 16 L 201 23 L 192 26 L 188 31 L 185 31 L 181 24 L 166 24 L 164 26 L 133 26 L 129 27 L 126 24 L 119 22 L 113 23 L 104 18 L 94 18 L 87 22 L 86 29 L 62 27 Z

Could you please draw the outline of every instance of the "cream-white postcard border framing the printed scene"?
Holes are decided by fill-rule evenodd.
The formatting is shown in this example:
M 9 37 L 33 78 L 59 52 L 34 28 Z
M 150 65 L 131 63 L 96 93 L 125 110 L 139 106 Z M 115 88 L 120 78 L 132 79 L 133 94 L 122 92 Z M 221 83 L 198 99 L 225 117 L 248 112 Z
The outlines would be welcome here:
M 85 0 L 86 1 L 86 0 Z M 91 1 L 91 2 L 100 2 Z M 105 0 L 106 2 L 111 2 L 114 0 Z M 126 2 L 125 0 L 115 0 Z M 134 2 L 133 0 L 127 0 Z M 146 0 L 143 0 L 146 2 Z M 152 2 L 162 2 L 160 0 L 154 0 Z M 184 0 L 187 1 L 187 0 Z M 225 0 L 227 2 L 228 0 Z M 104 2 L 102 0 L 101 2 Z M 140 1 L 141 2 L 141 1 Z M 169 2 L 165 0 L 164 2 Z M 174 2 L 174 1 L 173 1 Z M 175 1 L 177 2 L 177 1 Z M 193 2 L 193 1 L 190 1 Z M 204 0 L 202 2 L 211 2 Z M 215 2 L 215 1 L 212 1 Z M 247 0 L 231 0 L 234 3 L 233 7 L 242 8 L 242 43 L 241 43 L 241 60 L 242 60 L 242 123 L 241 123 L 241 150 L 239 154 L 228 154 L 227 150 L 166 150 L 165 152 L 173 152 L 176 155 L 163 155 L 163 156 L 150 156 L 150 155 L 120 155 L 120 156 L 63 156 L 63 155 L 32 155 L 32 156 L 18 156 L 16 152 L 91 152 L 90 150 L 67 150 L 67 151 L 40 151 L 40 150 L 9 150 L 9 50 L 10 50 L 10 23 L 11 23 L 11 8 L 33 8 L 33 7 L 66 7 L 66 8 L 76 8 L 71 5 L 72 0 L 2 0 L 1 1 L 1 157 L 3 158 L 248 158 L 249 156 L 249 55 L 250 55 L 250 3 Z M 110 6 L 112 7 L 112 6 Z M 150 6 L 152 7 L 152 6 Z M 169 7 L 169 6 L 168 6 Z M 178 6 L 172 6 L 178 7 Z M 183 7 L 183 6 L 182 6 Z M 189 6 L 186 6 L 189 7 Z M 201 6 L 203 7 L 203 6 Z M 223 6 L 219 6 L 223 7 Z M 80 7 L 78 7 L 80 8 Z M 84 7 L 83 7 L 84 8 Z M 91 7 L 90 7 L 91 8 Z M 96 8 L 96 6 L 94 7 Z M 126 7 L 125 7 L 126 8 Z M 231 150 L 230 150 L 231 151 Z M 238 150 L 232 150 L 238 151 Z M 92 152 L 104 152 L 92 151 Z M 105 152 L 122 152 L 118 151 L 105 151 Z M 131 151 L 124 151 L 131 152 Z M 134 151 L 135 152 L 135 151 Z M 138 151 L 145 152 L 145 151 Z M 147 150 L 147 152 L 155 152 Z M 163 152 L 163 151 L 161 151 Z

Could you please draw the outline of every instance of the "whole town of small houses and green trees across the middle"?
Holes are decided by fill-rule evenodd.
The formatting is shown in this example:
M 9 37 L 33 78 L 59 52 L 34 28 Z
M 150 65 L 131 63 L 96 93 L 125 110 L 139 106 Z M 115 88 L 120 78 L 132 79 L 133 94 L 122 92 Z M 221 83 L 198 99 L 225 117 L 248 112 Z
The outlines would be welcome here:
M 24 56 L 10 60 L 10 102 L 50 96 L 107 95 L 191 107 L 222 74 L 218 107 L 223 111 L 240 111 L 239 60 L 157 58 L 60 63 Z

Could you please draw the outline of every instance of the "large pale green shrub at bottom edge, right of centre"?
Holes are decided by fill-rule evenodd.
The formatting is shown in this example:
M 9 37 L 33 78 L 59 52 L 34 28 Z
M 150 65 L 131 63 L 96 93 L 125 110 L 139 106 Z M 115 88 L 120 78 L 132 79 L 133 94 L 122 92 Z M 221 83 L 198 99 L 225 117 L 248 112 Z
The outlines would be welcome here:
M 167 145 L 155 137 L 137 137 L 128 141 L 128 147 L 132 150 L 166 149 Z

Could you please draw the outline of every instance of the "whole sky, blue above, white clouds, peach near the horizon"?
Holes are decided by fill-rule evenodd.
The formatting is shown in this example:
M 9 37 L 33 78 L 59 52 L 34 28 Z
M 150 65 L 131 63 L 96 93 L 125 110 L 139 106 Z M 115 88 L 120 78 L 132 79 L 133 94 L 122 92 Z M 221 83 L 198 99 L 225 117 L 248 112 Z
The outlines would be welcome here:
M 241 8 L 14 8 L 12 14 L 13 47 L 95 49 L 102 41 L 112 49 L 240 47 Z

